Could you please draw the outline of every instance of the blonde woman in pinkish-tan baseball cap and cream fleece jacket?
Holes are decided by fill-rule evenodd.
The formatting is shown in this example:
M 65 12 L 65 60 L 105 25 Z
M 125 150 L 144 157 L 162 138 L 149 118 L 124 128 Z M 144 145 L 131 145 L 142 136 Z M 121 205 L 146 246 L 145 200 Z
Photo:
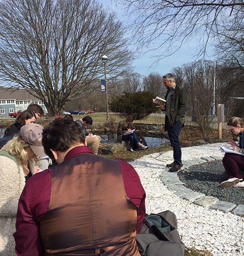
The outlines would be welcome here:
M 0 151 L 0 255 L 15 255 L 16 213 L 25 182 L 39 171 L 37 156 L 45 156 L 42 126 L 30 123 Z M 29 182 L 29 180 L 27 181 Z M 41 195 L 41 194 L 40 194 Z

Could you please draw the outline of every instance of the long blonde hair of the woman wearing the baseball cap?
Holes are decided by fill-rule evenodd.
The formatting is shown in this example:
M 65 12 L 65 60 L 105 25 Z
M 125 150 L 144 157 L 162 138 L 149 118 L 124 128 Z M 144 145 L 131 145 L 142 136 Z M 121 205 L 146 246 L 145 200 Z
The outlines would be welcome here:
M 26 147 L 30 145 L 22 140 L 19 134 L 13 137 L 12 140 L 9 140 L 2 148 L 1 151 L 7 151 L 11 156 L 16 157 L 18 163 L 27 170 L 28 168 L 28 155 L 25 150 Z M 37 162 L 37 157 L 34 158 L 34 161 Z

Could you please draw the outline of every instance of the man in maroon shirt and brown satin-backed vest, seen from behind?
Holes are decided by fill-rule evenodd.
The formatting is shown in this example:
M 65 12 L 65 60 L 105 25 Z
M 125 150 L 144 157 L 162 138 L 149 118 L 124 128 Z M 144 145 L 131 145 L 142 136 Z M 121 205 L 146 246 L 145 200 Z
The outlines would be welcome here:
M 43 130 L 58 165 L 31 177 L 20 196 L 16 254 L 136 255 L 145 191 L 135 169 L 95 155 L 80 126 L 56 119 Z

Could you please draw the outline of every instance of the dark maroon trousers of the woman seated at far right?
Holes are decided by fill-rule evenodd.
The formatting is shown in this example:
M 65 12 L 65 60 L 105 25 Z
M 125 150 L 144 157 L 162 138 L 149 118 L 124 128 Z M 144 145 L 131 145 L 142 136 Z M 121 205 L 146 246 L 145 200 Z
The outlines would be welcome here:
M 222 162 L 228 179 L 242 179 L 244 177 L 244 156 L 233 153 L 225 153 Z

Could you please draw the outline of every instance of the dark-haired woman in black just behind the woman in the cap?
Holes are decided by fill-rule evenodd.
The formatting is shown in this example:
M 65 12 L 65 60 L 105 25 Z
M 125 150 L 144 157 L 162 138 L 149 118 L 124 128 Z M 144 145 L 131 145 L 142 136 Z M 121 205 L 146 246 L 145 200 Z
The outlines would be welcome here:
M 20 116 L 16 118 L 14 124 L 9 126 L 5 132 L 4 136 L 0 139 L 0 148 L 2 148 L 9 140 L 20 132 L 20 128 L 25 124 L 34 123 L 36 121 L 35 114 L 30 110 L 25 110 L 20 113 Z

